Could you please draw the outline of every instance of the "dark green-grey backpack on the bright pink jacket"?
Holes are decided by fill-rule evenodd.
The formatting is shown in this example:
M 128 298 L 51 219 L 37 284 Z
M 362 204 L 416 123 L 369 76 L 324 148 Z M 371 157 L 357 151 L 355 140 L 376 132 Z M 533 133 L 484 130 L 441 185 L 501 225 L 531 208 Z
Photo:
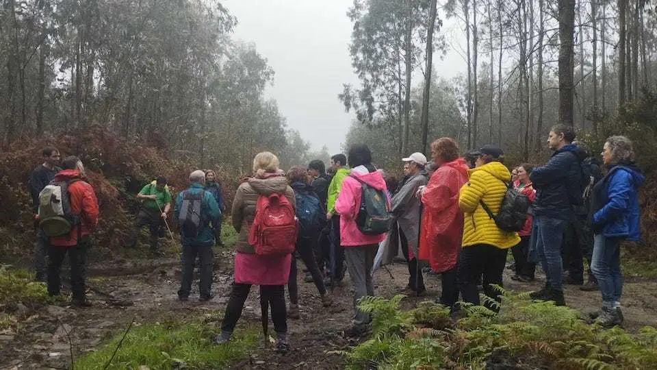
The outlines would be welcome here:
M 358 230 L 365 235 L 388 232 L 393 217 L 385 190 L 376 190 L 355 175 L 350 176 L 361 183 L 361 205 L 356 217 Z

